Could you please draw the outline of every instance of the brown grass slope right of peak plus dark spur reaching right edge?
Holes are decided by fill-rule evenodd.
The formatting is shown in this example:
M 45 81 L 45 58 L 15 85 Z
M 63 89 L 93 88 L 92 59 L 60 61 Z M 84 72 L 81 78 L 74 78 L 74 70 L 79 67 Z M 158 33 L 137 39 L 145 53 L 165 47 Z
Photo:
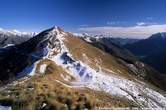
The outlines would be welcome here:
M 92 68 L 98 70 L 101 69 L 109 74 L 117 74 L 133 81 L 138 79 L 146 82 L 157 91 L 166 90 L 166 78 L 160 75 L 150 66 L 143 64 L 140 61 L 136 61 L 133 63 L 133 65 L 137 68 L 138 72 L 134 72 L 127 66 L 128 63 L 123 59 L 119 59 L 110 53 L 104 52 L 102 49 L 92 46 L 71 33 L 67 33 L 65 37 L 66 46 L 73 57 L 77 60 L 87 63 Z

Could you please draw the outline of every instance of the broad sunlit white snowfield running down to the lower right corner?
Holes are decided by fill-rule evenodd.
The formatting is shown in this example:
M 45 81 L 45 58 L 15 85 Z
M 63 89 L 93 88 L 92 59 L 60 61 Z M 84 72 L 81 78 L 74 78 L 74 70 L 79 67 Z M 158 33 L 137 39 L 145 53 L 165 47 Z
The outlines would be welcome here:
M 92 81 L 87 87 L 127 98 L 142 107 L 166 106 L 166 97 L 148 88 L 147 85 L 138 84 L 115 75 L 93 73 Z

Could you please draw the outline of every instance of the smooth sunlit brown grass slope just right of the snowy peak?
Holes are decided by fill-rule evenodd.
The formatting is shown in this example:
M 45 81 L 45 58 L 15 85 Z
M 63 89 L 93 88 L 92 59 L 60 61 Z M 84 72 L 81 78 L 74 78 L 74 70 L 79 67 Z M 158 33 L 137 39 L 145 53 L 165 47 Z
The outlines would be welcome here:
M 135 78 L 130 74 L 131 71 L 114 56 L 103 52 L 70 33 L 67 33 L 65 38 L 65 44 L 75 59 L 87 63 L 96 70 L 100 70 L 99 67 L 101 67 L 101 70 L 106 73 L 120 75 L 135 81 Z

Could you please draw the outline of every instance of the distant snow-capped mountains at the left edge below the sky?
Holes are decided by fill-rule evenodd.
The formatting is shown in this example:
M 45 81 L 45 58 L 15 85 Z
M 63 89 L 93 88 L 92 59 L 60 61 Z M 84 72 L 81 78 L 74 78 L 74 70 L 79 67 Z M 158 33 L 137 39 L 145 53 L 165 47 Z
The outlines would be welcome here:
M 7 31 L 0 29 L 0 47 L 9 44 L 20 44 L 33 37 L 36 33 L 22 33 L 16 30 Z

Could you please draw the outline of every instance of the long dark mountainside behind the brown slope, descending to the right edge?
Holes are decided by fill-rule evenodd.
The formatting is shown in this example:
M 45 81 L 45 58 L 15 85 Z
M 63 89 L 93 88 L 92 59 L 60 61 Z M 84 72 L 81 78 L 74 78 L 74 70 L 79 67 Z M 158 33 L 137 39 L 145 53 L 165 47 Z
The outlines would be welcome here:
M 148 80 L 149 82 L 161 87 L 165 86 L 165 77 L 160 75 L 153 68 L 140 62 L 134 55 L 127 51 L 124 47 L 115 44 L 114 42 L 107 42 L 105 38 L 94 38 L 87 35 L 81 37 L 89 44 L 101 49 L 102 51 L 109 53 L 116 57 L 119 63 L 123 64 L 126 68 L 132 71 L 132 74 Z M 157 83 L 156 83 L 157 82 Z M 165 88 L 165 87 L 164 87 Z

